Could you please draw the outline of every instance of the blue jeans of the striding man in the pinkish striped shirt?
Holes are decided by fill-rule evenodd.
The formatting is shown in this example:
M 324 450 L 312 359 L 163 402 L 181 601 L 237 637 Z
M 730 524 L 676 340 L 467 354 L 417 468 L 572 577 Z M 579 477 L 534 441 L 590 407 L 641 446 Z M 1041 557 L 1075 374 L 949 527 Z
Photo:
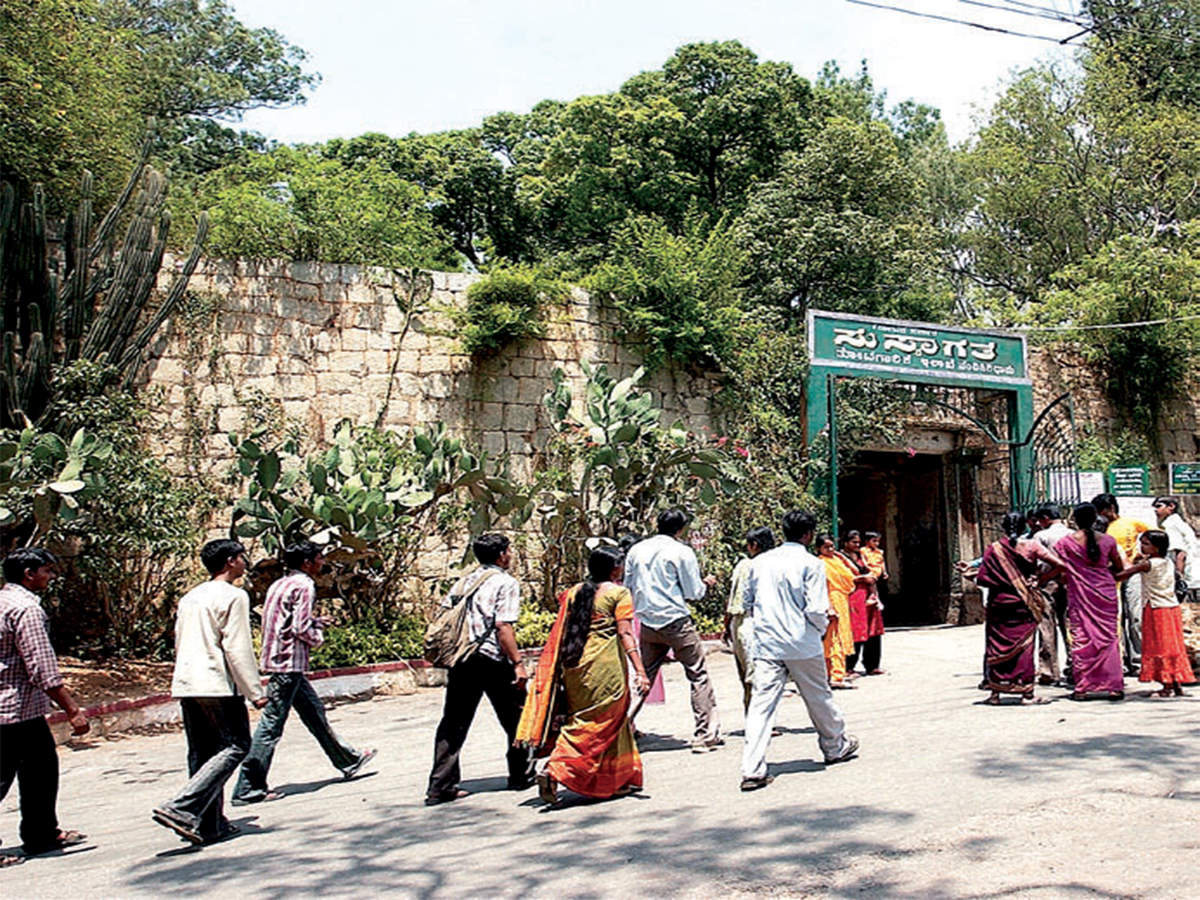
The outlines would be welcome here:
M 334 763 L 334 768 L 344 774 L 359 761 L 359 751 L 342 742 L 329 727 L 325 707 L 305 673 L 276 673 L 266 685 L 266 706 L 263 707 L 263 715 L 258 720 L 258 727 L 254 728 L 254 740 L 241 764 L 238 784 L 233 788 L 235 800 L 254 803 L 266 796 L 266 774 L 271 769 L 275 745 L 283 737 L 283 726 L 293 707 L 300 721 L 317 738 L 317 743 Z

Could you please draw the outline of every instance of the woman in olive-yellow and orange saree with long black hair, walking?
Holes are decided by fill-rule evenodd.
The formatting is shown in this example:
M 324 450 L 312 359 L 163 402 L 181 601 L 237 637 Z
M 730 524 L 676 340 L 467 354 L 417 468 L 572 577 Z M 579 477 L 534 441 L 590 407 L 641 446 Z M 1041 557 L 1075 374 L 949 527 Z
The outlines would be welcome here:
M 634 637 L 634 600 L 620 580 L 622 556 L 599 547 L 588 580 L 559 595 L 558 619 L 538 660 L 517 743 L 550 754 L 538 787 L 554 803 L 558 786 L 606 798 L 642 786 L 642 758 L 629 722 L 629 668 L 635 688 L 649 689 Z

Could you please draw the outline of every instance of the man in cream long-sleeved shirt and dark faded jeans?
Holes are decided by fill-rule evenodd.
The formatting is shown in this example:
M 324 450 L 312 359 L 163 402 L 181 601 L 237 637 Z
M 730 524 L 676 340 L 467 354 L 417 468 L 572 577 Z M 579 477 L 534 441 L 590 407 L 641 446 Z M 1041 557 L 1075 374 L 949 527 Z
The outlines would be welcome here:
M 154 821 L 192 844 L 212 844 L 238 833 L 223 815 L 224 784 L 250 750 L 246 701 L 262 709 L 266 692 L 251 641 L 250 596 L 236 587 L 246 548 L 209 541 L 200 560 L 212 577 L 179 601 L 170 683 L 184 713 L 191 780 L 155 809 Z

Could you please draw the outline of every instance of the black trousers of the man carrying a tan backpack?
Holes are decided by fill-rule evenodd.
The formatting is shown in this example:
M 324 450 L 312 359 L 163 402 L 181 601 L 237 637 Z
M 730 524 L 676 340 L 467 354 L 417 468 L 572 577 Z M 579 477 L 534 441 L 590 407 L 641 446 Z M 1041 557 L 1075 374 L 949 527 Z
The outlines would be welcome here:
M 524 688 L 514 682 L 512 664 L 488 659 L 480 653 L 468 656 L 446 674 L 446 698 L 433 740 L 433 770 L 430 773 L 430 797 L 446 797 L 458 788 L 462 770 L 458 754 L 467 740 L 467 732 L 475 719 L 479 701 L 487 695 L 496 718 L 508 737 L 505 760 L 509 782 L 522 784 L 529 779 L 529 752 L 512 745 L 524 706 Z

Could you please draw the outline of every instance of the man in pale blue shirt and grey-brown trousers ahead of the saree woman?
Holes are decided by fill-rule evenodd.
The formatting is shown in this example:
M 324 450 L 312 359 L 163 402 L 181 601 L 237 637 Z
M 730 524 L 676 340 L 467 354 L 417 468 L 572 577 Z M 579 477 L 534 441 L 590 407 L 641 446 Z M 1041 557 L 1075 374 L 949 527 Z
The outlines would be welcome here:
M 625 587 L 634 595 L 634 610 L 642 623 L 642 666 L 650 684 L 674 652 L 691 683 L 691 712 L 696 731 L 694 754 L 715 750 L 722 743 L 716 714 L 716 695 L 704 664 L 704 643 L 688 610 L 689 600 L 701 600 L 716 583 L 700 577 L 696 552 L 679 540 L 688 514 L 679 509 L 659 514 L 659 533 L 635 544 L 625 557 Z

